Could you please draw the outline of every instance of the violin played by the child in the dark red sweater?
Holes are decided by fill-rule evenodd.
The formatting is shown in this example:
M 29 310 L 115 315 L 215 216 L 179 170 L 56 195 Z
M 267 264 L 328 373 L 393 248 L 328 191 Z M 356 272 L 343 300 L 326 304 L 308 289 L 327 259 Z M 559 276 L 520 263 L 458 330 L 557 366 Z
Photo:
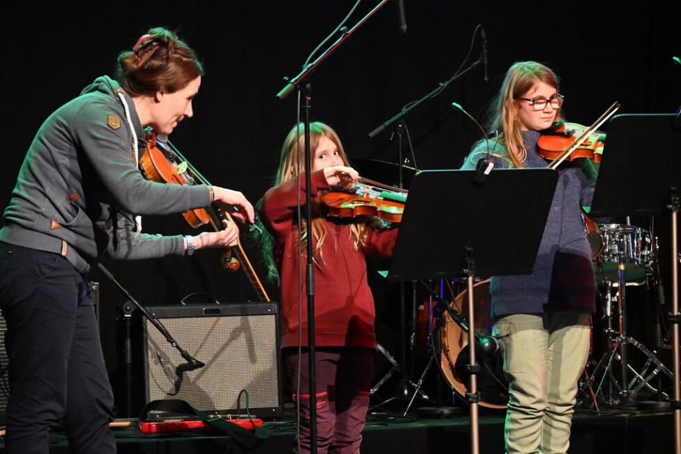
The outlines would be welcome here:
M 332 190 L 322 192 L 320 202 L 325 205 L 325 215 L 331 217 L 377 217 L 399 223 L 402 221 L 407 190 L 359 178 L 346 181 Z

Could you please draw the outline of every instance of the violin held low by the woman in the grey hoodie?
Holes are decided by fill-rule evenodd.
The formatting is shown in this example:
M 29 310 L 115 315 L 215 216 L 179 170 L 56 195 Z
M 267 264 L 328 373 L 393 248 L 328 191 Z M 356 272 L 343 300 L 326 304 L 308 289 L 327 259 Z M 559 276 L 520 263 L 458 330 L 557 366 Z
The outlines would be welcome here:
M 145 139 L 147 146 L 140 158 L 140 170 L 147 180 L 177 185 L 211 185 L 170 141 L 161 140 L 156 131 L 151 129 L 145 131 Z M 232 228 L 236 229 L 237 238 L 239 238 L 239 229 L 234 219 L 228 212 L 222 210 L 217 203 L 212 203 L 208 208 L 197 208 L 183 212 L 182 216 L 193 228 L 211 224 L 215 231 L 222 230 L 224 221 L 227 221 Z M 222 267 L 228 271 L 243 269 L 261 301 L 270 301 L 270 296 L 268 296 L 265 287 L 263 287 L 248 260 L 240 239 L 237 239 L 236 246 L 228 248 L 222 255 Z

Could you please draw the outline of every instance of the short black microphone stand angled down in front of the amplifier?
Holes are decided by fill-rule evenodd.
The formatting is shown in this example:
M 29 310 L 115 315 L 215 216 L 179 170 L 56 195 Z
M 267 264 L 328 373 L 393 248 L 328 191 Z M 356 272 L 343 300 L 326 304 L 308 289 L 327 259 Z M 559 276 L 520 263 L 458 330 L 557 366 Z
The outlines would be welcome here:
M 165 336 L 165 339 L 167 340 L 167 342 L 170 345 L 172 345 L 174 348 L 177 348 L 177 351 L 179 351 L 182 358 L 184 358 L 186 360 L 185 364 L 179 364 L 179 366 L 177 367 L 176 372 L 175 372 L 175 374 L 177 375 L 177 379 L 175 380 L 175 393 L 174 394 L 177 394 L 179 392 L 180 386 L 182 384 L 183 373 L 186 372 L 186 371 L 193 371 L 195 369 L 199 369 L 201 367 L 204 367 L 206 364 L 204 364 L 203 362 L 193 358 L 192 355 L 187 353 L 186 350 L 184 350 L 181 346 L 179 346 L 179 344 L 177 344 L 177 341 L 172 337 L 172 335 L 170 335 L 167 328 L 165 328 L 165 326 L 163 326 L 163 323 L 161 323 L 161 321 L 158 321 L 158 319 L 156 318 L 156 316 L 154 314 L 149 312 L 143 305 L 138 303 L 138 301 L 133 298 L 133 296 L 130 294 L 130 292 L 128 292 L 125 289 L 125 287 L 123 287 L 123 285 L 121 285 L 121 283 L 119 283 L 118 280 L 116 280 L 116 278 L 113 276 L 113 274 L 111 274 L 110 271 L 108 269 L 106 269 L 106 267 L 104 267 L 103 264 L 98 263 L 97 267 L 99 267 L 99 269 L 104 273 L 104 275 L 106 275 L 106 277 L 109 278 L 109 280 L 111 282 L 113 282 L 121 290 L 121 292 L 123 292 L 123 294 L 126 296 L 126 298 L 130 302 L 132 302 L 134 305 L 137 306 L 137 308 L 140 311 L 142 311 L 142 314 L 144 314 L 144 316 L 147 317 L 147 320 L 149 320 L 151 322 L 151 324 L 154 325 L 156 327 L 156 329 L 158 329 L 158 331 L 161 332 L 161 334 L 163 336 Z M 131 376 L 129 376 L 129 373 L 130 373 L 129 367 L 131 367 L 131 365 L 132 365 L 129 317 L 132 314 L 133 310 L 134 310 L 134 308 L 131 308 L 131 306 L 129 304 L 126 303 L 126 305 L 124 305 L 123 311 L 124 311 L 125 316 L 126 316 L 125 362 L 126 362 L 126 375 L 128 375 L 127 376 L 127 383 L 126 383 L 126 402 L 127 402 L 127 405 L 128 405 L 128 408 L 127 408 L 128 416 L 131 416 L 131 407 L 132 407 Z

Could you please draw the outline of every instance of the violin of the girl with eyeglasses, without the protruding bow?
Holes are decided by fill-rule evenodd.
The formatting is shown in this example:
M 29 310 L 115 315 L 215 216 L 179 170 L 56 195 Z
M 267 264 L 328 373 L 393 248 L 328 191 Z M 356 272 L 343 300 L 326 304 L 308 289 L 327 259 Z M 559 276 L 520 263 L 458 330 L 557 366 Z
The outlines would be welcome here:
M 575 139 L 586 131 L 586 126 L 577 123 L 556 121 L 550 129 L 542 131 L 537 146 L 539 154 L 545 159 L 554 160 L 560 153 L 571 146 Z M 600 162 L 605 145 L 605 133 L 592 131 L 584 137 L 577 149 L 573 151 L 571 159 L 588 158 L 593 162 Z

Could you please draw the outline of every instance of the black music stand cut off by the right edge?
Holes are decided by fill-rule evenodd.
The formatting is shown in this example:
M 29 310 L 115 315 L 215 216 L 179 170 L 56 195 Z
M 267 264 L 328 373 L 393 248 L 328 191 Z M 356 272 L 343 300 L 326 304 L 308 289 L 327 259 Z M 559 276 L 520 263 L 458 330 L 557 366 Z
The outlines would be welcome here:
M 617 115 L 608 126 L 590 216 L 671 212 L 671 277 L 675 453 L 681 453 L 679 384 L 678 237 L 681 121 L 674 114 Z M 621 292 L 621 289 L 620 289 Z M 623 383 L 626 386 L 626 383 Z M 625 389 L 626 391 L 626 389 Z

